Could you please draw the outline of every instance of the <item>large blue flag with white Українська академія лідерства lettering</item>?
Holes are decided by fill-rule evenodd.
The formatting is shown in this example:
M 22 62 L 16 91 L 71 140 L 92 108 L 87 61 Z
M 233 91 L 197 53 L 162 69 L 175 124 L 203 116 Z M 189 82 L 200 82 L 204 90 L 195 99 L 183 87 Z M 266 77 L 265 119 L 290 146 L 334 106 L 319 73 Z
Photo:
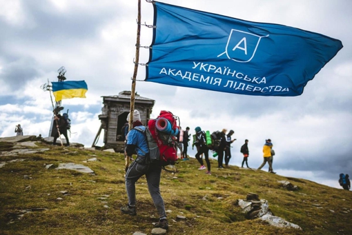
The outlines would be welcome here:
M 154 1 L 146 81 L 257 96 L 298 96 L 342 48 L 322 34 Z

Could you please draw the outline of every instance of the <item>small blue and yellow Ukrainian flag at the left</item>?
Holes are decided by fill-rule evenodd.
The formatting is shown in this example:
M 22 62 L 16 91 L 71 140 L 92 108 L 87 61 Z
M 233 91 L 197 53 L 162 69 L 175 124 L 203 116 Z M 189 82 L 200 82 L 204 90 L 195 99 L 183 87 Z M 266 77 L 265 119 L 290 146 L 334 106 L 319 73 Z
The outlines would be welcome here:
M 55 101 L 71 98 L 86 98 L 88 86 L 86 81 L 60 81 L 52 82 L 52 93 Z

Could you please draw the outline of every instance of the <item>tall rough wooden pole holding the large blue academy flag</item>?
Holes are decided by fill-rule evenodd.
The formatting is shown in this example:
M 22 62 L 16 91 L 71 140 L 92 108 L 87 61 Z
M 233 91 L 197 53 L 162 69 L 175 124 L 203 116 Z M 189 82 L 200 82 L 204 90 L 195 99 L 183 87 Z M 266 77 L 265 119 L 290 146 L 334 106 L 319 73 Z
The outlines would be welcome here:
M 132 88 L 130 92 L 130 120 L 128 121 L 128 130 L 133 127 L 133 111 L 135 110 L 135 90 L 136 90 L 136 78 L 138 72 L 139 63 L 139 43 L 141 37 L 141 0 L 138 0 L 138 16 L 137 16 L 137 42 L 136 42 L 136 54 L 135 54 L 135 70 L 132 78 Z M 125 156 L 125 170 L 127 171 L 130 165 L 130 157 Z

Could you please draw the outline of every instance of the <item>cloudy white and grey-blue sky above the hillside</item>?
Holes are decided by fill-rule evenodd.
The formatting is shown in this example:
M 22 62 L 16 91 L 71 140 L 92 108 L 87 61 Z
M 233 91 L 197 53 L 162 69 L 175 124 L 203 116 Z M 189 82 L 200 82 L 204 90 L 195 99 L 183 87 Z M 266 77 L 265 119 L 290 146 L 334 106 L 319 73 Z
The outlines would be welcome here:
M 162 2 L 289 25 L 342 41 L 344 48 L 301 96 L 244 96 L 144 81 L 136 87 L 138 94 L 156 101 L 152 118 L 170 110 L 192 132 L 196 126 L 235 130 L 232 165 L 240 166 L 239 148 L 249 139 L 248 163 L 258 167 L 262 145 L 270 138 L 277 174 L 340 188 L 338 175 L 352 174 L 352 1 Z M 141 21 L 153 24 L 152 4 L 142 1 L 141 10 Z M 70 140 L 90 147 L 100 125 L 101 96 L 131 88 L 136 19 L 137 1 L 0 0 L 0 136 L 14 135 L 18 123 L 24 134 L 48 136 L 52 103 L 50 93 L 40 87 L 57 81 L 57 70 L 64 66 L 68 80 L 88 84 L 86 99 L 63 100 L 63 106 L 72 119 Z M 151 39 L 152 30 L 142 27 L 141 45 L 150 45 Z M 141 49 L 139 62 L 146 63 L 148 56 Z M 144 76 L 140 67 L 137 79 Z

